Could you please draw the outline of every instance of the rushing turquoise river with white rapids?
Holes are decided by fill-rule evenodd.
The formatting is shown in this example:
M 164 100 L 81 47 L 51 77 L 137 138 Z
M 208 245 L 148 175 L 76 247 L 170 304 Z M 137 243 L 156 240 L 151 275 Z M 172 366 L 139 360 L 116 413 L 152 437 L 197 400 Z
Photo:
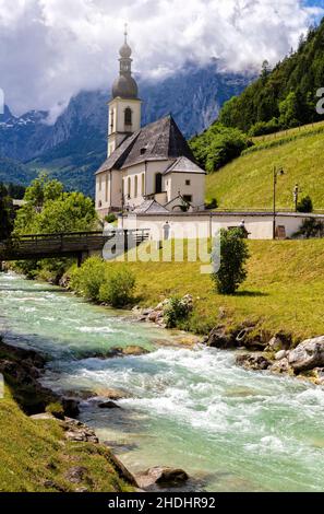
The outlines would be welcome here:
M 51 355 L 52 389 L 129 393 L 122 409 L 83 401 L 80 419 L 131 471 L 182 467 L 214 492 L 324 490 L 322 388 L 244 371 L 230 352 L 179 348 L 167 330 L 13 273 L 0 273 L 0 326 L 8 342 Z M 129 344 L 151 353 L 88 358 Z

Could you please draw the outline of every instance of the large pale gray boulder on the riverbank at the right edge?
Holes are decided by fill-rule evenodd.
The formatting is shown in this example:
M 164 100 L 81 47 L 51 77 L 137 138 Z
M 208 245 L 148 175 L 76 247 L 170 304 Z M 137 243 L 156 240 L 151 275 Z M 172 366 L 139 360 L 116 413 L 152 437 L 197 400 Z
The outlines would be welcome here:
M 289 352 L 288 361 L 296 373 L 324 366 L 324 336 L 308 339 Z

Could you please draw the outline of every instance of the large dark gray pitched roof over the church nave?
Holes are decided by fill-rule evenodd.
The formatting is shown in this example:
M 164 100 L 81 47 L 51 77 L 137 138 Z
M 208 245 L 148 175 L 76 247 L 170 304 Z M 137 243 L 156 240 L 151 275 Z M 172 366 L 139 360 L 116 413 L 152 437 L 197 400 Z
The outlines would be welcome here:
M 195 162 L 193 153 L 172 116 L 146 125 L 127 138 L 100 166 L 97 173 L 140 164 L 145 161 L 167 161 L 187 157 Z

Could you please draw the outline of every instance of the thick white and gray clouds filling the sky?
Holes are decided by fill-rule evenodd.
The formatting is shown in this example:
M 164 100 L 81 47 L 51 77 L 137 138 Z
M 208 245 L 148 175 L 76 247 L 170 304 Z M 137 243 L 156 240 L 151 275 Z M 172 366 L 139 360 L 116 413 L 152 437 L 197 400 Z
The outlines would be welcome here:
M 213 57 L 232 71 L 275 63 L 321 14 L 301 0 L 0 0 L 0 87 L 15 113 L 55 119 L 80 90 L 111 83 L 125 21 L 134 69 L 160 77 Z

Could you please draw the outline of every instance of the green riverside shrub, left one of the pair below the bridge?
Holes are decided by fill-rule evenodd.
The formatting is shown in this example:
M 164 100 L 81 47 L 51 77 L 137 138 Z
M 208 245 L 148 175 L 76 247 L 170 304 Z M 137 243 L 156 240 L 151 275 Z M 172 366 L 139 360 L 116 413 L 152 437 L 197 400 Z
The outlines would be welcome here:
M 105 261 L 99 257 L 91 257 L 81 268 L 72 272 L 71 288 L 85 297 L 97 302 L 104 277 Z

